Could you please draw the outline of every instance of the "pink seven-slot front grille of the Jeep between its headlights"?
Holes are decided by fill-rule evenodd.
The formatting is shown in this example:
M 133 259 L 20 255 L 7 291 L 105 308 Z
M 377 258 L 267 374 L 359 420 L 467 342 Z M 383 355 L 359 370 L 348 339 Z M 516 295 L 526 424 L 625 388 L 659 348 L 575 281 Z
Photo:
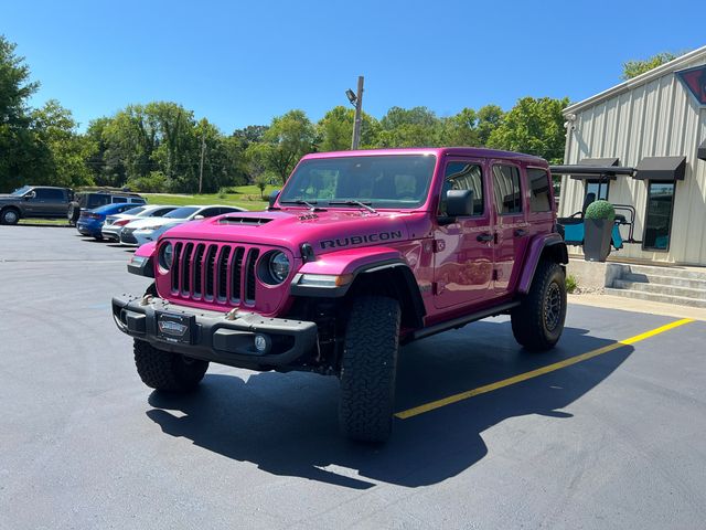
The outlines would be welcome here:
M 223 243 L 172 241 L 171 295 L 228 306 L 255 305 L 260 248 Z

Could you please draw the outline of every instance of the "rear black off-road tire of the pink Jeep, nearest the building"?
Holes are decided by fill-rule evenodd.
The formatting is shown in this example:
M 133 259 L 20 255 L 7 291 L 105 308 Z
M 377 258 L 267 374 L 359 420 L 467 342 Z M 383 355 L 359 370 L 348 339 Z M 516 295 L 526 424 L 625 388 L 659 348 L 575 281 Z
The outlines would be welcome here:
M 559 264 L 541 261 L 530 293 L 511 314 L 515 340 L 532 351 L 554 348 L 566 319 L 566 274 Z

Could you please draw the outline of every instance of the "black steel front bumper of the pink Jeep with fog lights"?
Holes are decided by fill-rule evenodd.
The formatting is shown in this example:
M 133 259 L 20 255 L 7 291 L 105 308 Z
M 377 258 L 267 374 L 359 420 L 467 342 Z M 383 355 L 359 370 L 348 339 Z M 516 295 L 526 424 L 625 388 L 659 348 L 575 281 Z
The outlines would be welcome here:
M 317 348 L 314 322 L 206 311 L 156 297 L 114 297 L 113 317 L 120 331 L 160 350 L 253 370 L 293 368 Z M 258 335 L 266 351 L 255 347 Z

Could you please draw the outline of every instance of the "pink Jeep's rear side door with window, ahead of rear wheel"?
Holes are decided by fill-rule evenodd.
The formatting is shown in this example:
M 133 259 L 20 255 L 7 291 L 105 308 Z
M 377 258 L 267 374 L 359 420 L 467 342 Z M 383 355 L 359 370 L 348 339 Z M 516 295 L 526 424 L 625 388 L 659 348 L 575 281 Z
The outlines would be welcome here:
M 495 294 L 514 288 L 527 245 L 530 226 L 525 218 L 525 195 L 520 167 L 493 161 L 493 200 L 495 203 Z

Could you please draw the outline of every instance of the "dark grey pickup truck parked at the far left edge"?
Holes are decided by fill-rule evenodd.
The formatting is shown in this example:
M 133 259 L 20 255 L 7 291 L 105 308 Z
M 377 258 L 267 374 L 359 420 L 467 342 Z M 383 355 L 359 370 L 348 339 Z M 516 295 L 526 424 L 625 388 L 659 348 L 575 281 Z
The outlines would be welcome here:
M 62 219 L 73 194 L 68 188 L 23 186 L 0 195 L 0 223 L 18 224 L 20 219 Z

